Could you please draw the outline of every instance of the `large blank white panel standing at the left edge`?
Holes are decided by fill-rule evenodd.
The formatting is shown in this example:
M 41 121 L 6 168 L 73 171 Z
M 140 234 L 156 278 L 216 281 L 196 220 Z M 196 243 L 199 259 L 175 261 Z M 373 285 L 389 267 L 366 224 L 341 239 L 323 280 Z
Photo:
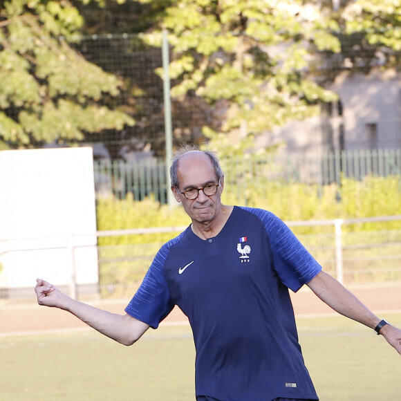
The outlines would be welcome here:
M 72 259 L 97 283 L 95 233 L 91 148 L 0 151 L 0 288 L 69 284 Z

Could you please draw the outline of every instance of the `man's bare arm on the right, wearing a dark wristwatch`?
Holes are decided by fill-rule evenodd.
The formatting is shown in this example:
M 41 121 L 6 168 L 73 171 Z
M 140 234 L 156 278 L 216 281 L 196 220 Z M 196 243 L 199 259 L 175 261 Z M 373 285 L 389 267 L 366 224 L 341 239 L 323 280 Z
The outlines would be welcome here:
M 319 272 L 309 281 L 308 287 L 315 292 L 324 303 L 336 312 L 374 329 L 380 319 L 371 312 L 362 302 L 349 292 L 336 279 L 325 272 Z M 386 324 L 380 334 L 401 355 L 401 330 L 390 324 Z

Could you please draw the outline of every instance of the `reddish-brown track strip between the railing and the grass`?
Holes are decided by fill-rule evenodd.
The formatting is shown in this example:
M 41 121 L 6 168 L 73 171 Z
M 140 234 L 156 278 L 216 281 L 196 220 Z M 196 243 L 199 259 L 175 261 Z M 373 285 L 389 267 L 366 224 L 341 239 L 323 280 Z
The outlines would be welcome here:
M 375 313 L 382 315 L 386 312 L 401 310 L 401 283 L 383 284 L 379 286 L 364 286 L 350 288 L 366 306 Z M 292 294 L 292 304 L 295 314 L 304 315 L 328 315 L 333 310 L 321 302 L 308 288 L 302 289 L 297 294 Z M 109 310 L 112 313 L 124 313 L 127 301 L 102 301 L 91 303 L 97 308 Z M 187 322 L 187 318 L 176 308 L 165 319 L 167 324 Z M 28 306 L 4 306 L 0 308 L 0 335 L 21 335 L 40 333 L 51 330 L 68 330 L 87 328 L 76 317 L 62 310 L 46 308 L 31 304 Z

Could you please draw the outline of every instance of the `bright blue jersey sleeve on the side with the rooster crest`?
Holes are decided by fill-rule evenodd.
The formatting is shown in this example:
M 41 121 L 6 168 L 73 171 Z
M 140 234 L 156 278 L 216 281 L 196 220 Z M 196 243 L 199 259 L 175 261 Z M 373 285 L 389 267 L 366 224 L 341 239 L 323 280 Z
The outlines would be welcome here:
M 262 209 L 256 214 L 268 233 L 274 269 L 281 282 L 297 292 L 321 271 L 321 265 L 280 218 Z

